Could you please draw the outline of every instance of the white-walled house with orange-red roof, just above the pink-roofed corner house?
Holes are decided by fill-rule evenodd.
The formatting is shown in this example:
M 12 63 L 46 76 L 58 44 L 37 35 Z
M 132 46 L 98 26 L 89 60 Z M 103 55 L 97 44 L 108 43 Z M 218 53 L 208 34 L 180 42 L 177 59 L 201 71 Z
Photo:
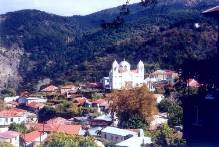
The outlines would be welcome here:
M 27 121 L 26 111 L 17 108 L 0 111 L 0 126 L 9 126 L 12 123 Z

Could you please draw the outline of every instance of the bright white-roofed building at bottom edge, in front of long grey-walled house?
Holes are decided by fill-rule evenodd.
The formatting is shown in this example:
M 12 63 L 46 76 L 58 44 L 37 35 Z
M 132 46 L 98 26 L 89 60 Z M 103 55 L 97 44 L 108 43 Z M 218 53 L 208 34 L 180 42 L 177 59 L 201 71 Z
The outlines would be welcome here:
M 116 147 L 149 147 L 152 144 L 150 137 L 134 136 L 116 144 Z

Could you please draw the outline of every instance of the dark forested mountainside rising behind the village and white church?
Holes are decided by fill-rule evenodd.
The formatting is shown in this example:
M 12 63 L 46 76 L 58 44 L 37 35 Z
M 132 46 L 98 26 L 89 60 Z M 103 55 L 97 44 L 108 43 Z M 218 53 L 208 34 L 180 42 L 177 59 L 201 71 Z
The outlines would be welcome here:
M 151 71 L 212 57 L 216 23 L 201 12 L 216 4 L 218 0 L 172 1 L 154 8 L 134 4 L 122 25 L 107 29 L 101 22 L 112 21 L 119 8 L 72 17 L 38 10 L 1 15 L 0 88 L 36 88 L 45 78 L 56 83 L 98 81 L 107 76 L 114 59 L 132 64 L 141 59 Z

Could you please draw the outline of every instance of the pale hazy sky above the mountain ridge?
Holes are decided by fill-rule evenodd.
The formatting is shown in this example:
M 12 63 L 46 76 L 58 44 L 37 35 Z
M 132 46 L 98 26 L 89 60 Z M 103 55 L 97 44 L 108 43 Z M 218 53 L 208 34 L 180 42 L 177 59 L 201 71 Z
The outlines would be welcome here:
M 0 14 L 38 9 L 63 16 L 86 15 L 124 4 L 126 0 L 0 0 Z M 131 0 L 130 3 L 140 2 Z

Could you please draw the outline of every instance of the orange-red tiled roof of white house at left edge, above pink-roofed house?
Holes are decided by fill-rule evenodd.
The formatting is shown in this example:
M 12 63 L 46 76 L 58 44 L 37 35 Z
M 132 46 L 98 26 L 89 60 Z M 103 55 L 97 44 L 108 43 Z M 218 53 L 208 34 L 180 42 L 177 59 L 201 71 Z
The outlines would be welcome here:
M 21 117 L 26 111 L 18 108 L 11 108 L 0 112 L 0 117 Z

